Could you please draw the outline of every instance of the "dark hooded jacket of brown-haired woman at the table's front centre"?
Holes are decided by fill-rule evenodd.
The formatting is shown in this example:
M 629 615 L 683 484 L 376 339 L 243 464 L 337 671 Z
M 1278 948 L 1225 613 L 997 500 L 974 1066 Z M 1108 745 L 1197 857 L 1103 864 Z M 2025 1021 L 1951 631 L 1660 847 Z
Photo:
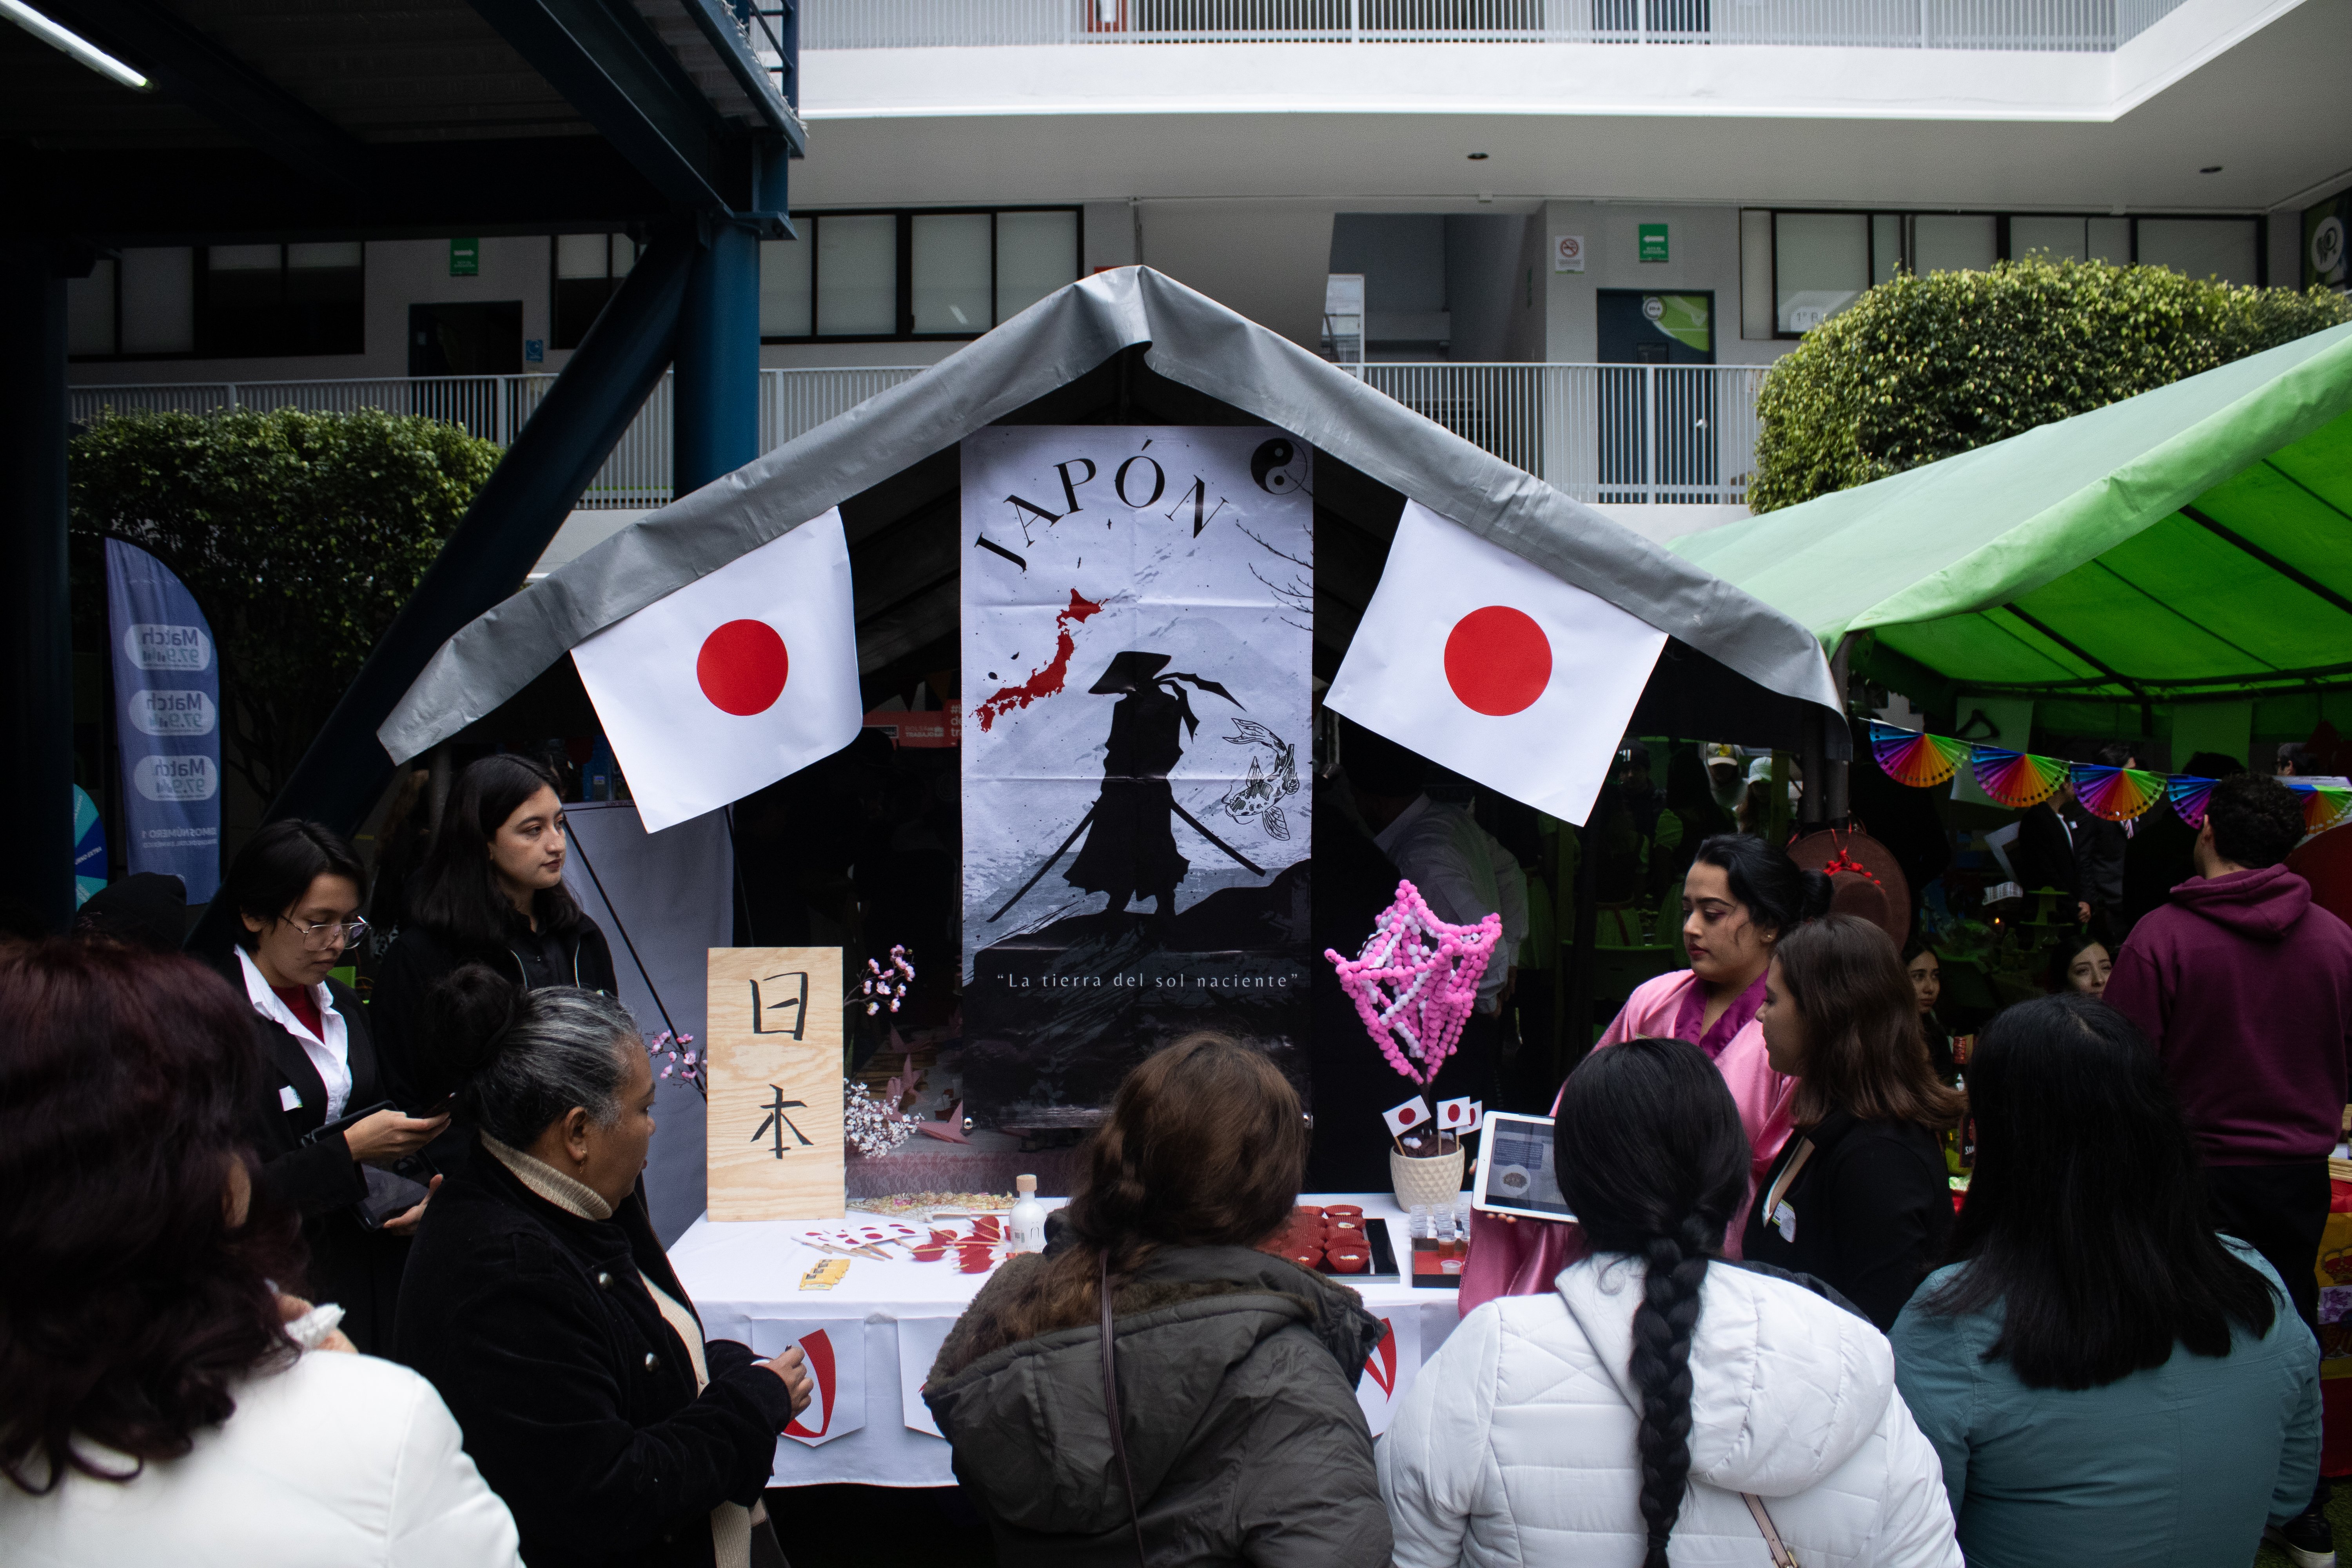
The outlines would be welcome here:
M 1014 1258 L 981 1286 L 924 1401 L 1000 1563 L 1131 1568 L 1101 1326 L 971 1354 L 1002 1338 L 1004 1302 L 1042 1267 Z M 1388 1512 L 1355 1403 L 1383 1326 L 1352 1291 L 1240 1246 L 1160 1248 L 1112 1291 L 1112 1312 L 1120 1432 L 1155 1563 L 1388 1563 Z

